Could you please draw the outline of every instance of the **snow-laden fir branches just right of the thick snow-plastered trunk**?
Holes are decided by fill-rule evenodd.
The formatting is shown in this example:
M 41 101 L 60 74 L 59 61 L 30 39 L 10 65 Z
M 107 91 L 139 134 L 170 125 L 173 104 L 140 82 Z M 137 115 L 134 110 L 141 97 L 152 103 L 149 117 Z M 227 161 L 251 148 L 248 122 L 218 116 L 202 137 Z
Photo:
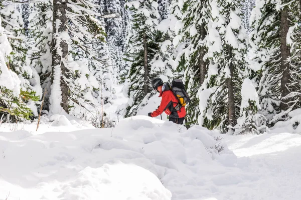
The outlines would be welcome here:
M 71 19 L 67 26 L 71 36 L 68 66 L 73 72 L 70 76 L 70 114 L 89 120 L 99 118 L 103 113 L 102 104 L 111 101 L 114 93 L 112 74 L 116 74 L 98 8 L 86 1 L 67 14 Z

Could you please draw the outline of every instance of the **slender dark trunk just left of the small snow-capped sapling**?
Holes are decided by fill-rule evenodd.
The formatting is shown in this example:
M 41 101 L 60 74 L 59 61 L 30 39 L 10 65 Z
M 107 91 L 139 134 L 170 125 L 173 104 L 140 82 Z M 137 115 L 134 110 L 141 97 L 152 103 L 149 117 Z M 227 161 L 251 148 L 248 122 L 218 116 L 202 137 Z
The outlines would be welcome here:
M 232 49 L 231 46 L 228 45 L 228 53 L 229 58 L 232 57 Z M 230 63 L 230 76 L 229 78 L 226 78 L 226 83 L 228 87 L 228 101 L 229 101 L 229 125 L 234 126 L 235 125 L 235 100 L 234 100 L 234 88 L 233 88 L 233 64 Z

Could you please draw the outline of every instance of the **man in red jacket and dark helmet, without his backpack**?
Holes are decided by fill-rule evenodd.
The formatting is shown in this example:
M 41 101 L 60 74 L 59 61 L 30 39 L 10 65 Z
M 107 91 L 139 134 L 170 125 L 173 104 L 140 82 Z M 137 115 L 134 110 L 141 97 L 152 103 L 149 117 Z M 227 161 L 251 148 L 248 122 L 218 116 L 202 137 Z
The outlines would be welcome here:
M 160 92 L 162 97 L 161 104 L 153 112 L 149 112 L 147 115 L 151 117 L 158 116 L 163 111 L 169 115 L 169 120 L 177 124 L 183 124 L 186 115 L 185 106 L 181 106 L 178 98 L 172 91 L 169 83 L 163 83 L 161 78 L 155 78 L 152 81 L 152 86 L 155 90 Z

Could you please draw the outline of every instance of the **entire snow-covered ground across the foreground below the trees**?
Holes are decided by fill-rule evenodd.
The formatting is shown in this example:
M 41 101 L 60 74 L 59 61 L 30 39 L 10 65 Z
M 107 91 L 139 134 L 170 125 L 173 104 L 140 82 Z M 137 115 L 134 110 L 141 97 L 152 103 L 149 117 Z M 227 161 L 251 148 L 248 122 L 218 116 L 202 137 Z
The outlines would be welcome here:
M 53 120 L 37 132 L 35 124 L 1 124 L 0 199 L 301 196 L 299 134 L 220 135 L 147 116 L 102 129 Z

